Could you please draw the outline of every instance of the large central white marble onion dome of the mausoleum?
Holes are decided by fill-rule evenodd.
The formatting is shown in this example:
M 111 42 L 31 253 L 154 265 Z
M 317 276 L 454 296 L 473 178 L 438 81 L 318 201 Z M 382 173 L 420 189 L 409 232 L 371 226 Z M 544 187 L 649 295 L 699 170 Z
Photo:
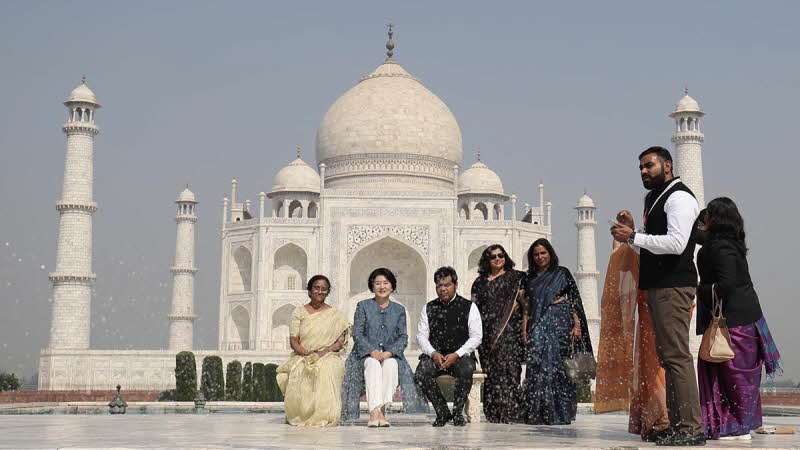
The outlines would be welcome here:
M 326 184 L 346 179 L 363 185 L 383 177 L 378 184 L 391 178 L 452 187 L 452 167 L 462 158 L 461 129 L 444 102 L 387 60 L 328 109 L 316 150 L 317 163 L 328 168 Z

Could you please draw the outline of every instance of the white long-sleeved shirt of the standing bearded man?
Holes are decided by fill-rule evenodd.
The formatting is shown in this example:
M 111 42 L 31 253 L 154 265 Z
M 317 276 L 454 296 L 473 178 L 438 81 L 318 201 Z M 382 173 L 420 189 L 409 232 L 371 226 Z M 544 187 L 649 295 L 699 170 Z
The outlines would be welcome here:
M 664 212 L 667 215 L 667 234 L 646 234 L 642 228 L 633 237 L 636 252 L 643 248 L 656 255 L 680 255 L 686 249 L 692 226 L 700 214 L 697 200 L 686 191 L 673 192 L 664 202 Z

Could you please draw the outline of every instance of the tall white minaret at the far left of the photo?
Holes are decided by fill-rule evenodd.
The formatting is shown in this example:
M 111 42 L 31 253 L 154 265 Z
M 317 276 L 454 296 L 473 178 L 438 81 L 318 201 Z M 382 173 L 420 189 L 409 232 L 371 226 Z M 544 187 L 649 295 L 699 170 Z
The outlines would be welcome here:
M 53 283 L 53 313 L 50 325 L 51 349 L 88 349 L 92 285 L 92 201 L 94 181 L 95 111 L 100 108 L 86 77 L 64 102 L 67 135 L 64 158 L 64 184 L 56 203 L 60 217 L 56 268 L 50 273 Z

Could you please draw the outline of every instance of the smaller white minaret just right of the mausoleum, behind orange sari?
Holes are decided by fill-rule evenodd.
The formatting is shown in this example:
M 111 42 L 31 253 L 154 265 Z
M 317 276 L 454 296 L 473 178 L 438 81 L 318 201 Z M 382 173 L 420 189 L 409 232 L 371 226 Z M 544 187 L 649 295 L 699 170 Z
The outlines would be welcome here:
M 583 299 L 583 309 L 589 323 L 589 336 L 592 347 L 597 352 L 600 340 L 600 302 L 597 296 L 597 250 L 594 245 L 594 230 L 597 221 L 594 219 L 594 201 L 584 193 L 575 206 L 578 211 L 578 220 L 575 227 L 578 229 L 578 264 L 575 271 L 575 281 L 578 291 Z

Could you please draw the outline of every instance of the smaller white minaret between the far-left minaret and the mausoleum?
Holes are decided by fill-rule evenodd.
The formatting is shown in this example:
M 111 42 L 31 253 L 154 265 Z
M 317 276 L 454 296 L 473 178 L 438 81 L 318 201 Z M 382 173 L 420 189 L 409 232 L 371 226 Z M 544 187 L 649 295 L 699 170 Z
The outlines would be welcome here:
M 189 186 L 175 200 L 178 235 L 175 239 L 175 265 L 172 272 L 172 311 L 169 316 L 169 349 L 191 350 L 194 315 L 194 224 L 197 201 Z

